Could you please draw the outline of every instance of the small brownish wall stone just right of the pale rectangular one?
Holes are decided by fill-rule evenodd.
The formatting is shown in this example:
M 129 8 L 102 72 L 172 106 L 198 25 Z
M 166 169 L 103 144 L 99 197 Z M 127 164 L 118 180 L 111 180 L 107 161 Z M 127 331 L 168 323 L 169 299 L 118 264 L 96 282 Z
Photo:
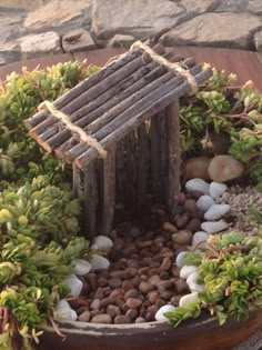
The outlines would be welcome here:
M 62 38 L 62 48 L 66 52 L 77 52 L 95 48 L 90 32 L 84 29 L 75 29 Z

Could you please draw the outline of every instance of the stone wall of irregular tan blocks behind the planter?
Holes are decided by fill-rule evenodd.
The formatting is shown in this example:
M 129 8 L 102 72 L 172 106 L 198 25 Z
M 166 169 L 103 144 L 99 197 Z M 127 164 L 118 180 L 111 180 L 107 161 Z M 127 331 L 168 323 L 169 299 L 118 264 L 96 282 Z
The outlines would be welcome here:
M 262 0 L 0 0 L 0 64 L 160 31 L 167 46 L 262 51 Z

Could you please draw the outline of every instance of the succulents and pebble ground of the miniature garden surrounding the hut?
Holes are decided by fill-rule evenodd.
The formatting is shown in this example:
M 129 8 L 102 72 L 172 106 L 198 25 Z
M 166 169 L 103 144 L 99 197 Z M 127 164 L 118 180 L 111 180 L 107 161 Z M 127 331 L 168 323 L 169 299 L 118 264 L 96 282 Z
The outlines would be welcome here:
M 208 313 L 222 324 L 261 308 L 262 94 L 251 81 L 236 87 L 235 76 L 213 69 L 195 94 L 180 99 L 175 210 L 169 210 L 168 193 L 153 191 L 168 181 L 160 172 L 145 203 L 131 201 L 139 210 L 117 197 L 112 229 L 91 238 L 72 166 L 47 153 L 24 120 L 42 101 L 54 101 L 99 70 L 68 62 L 24 68 L 1 81 L 3 350 L 34 349 L 47 324 L 58 337 L 59 326 L 72 321 L 178 326 Z M 135 137 L 128 141 L 134 156 Z M 130 173 L 122 179 L 127 193 Z

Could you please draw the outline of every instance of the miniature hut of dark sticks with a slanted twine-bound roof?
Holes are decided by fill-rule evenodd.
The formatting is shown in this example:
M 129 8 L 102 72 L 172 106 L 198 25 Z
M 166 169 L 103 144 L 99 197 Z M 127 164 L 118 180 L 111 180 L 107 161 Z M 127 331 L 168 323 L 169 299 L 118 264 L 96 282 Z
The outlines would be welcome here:
M 67 120 L 49 109 L 26 121 L 39 144 L 73 164 L 89 236 L 109 233 L 115 202 L 138 209 L 151 193 L 175 210 L 178 100 L 192 91 L 192 81 L 199 84 L 211 74 L 160 44 L 141 44 L 54 101 Z

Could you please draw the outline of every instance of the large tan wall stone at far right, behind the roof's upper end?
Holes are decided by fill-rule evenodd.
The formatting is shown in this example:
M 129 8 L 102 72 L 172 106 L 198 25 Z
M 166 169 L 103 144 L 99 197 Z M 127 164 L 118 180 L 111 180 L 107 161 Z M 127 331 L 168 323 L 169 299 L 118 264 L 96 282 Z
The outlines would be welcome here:
M 262 19 L 250 13 L 204 13 L 162 36 L 165 46 L 192 44 L 250 49 Z

